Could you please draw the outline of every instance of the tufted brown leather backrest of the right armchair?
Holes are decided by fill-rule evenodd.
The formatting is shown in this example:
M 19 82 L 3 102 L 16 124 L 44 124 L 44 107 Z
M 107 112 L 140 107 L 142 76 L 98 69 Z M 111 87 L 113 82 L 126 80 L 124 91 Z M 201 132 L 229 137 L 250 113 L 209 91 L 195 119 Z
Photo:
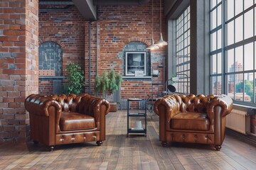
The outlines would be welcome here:
M 205 96 L 199 94 L 198 96 L 194 94 L 189 94 L 187 96 L 180 94 L 181 97 L 181 112 L 193 112 L 193 113 L 206 113 L 206 108 L 208 103 L 215 97 L 214 95 Z

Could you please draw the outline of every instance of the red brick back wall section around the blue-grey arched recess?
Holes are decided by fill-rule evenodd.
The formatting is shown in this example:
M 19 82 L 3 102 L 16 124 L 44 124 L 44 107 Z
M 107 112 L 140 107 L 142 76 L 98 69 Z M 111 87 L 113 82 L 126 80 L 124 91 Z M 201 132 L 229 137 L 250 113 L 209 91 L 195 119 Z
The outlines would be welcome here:
M 53 6 L 63 8 L 65 6 Z M 57 42 L 63 50 L 63 74 L 68 62 L 81 64 L 85 60 L 85 20 L 75 6 L 61 11 L 50 10 L 50 6 L 40 5 L 48 11 L 39 13 L 39 41 Z

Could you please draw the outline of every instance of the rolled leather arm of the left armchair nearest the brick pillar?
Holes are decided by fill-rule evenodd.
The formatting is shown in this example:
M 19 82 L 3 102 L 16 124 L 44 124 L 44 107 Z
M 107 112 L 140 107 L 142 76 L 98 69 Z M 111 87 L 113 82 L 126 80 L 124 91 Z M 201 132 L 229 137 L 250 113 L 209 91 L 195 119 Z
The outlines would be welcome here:
M 61 114 L 62 108 L 60 103 L 55 101 L 53 98 L 42 96 L 40 94 L 31 94 L 25 101 L 25 108 L 30 114 L 48 117 L 48 108 L 50 106 L 55 107 L 57 114 Z

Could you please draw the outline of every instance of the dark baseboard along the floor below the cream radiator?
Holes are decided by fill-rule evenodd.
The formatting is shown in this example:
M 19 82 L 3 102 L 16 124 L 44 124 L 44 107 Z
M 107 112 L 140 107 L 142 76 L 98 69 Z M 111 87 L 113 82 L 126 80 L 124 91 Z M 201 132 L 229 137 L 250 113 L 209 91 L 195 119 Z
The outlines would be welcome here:
M 235 137 L 238 140 L 241 140 L 242 142 L 245 142 L 250 145 L 254 145 L 256 147 L 256 136 L 253 135 L 244 135 L 240 132 L 236 132 L 235 130 L 231 130 L 229 128 L 225 128 L 226 135 L 230 135 Z

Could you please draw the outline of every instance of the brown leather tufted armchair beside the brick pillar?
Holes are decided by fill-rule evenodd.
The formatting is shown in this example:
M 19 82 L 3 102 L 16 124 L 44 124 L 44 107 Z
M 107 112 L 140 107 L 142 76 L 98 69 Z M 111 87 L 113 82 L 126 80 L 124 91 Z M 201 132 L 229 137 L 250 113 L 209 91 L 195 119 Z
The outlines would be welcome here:
M 50 146 L 105 140 L 105 115 L 110 104 L 89 94 L 31 94 L 26 98 L 31 138 Z

